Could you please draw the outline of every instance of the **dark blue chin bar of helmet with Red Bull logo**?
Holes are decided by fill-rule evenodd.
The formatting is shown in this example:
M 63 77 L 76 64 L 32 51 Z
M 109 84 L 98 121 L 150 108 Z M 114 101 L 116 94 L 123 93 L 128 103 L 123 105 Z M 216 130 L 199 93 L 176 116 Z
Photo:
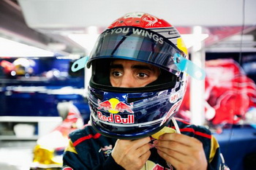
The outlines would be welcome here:
M 150 136 L 167 125 L 176 114 L 183 98 L 181 84 L 177 82 L 176 88 L 146 93 L 116 93 L 89 88 L 91 125 L 100 134 L 117 139 Z M 177 88 L 180 90 L 174 92 Z

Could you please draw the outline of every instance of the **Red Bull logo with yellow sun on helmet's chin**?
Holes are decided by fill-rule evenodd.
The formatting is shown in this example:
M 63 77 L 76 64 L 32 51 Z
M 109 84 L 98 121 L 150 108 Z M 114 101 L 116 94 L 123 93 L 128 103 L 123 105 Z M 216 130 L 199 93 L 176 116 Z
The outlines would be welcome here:
M 133 103 L 131 104 L 125 104 L 124 102 L 119 101 L 117 98 L 110 98 L 106 101 L 99 101 L 98 100 L 98 108 L 97 109 L 103 109 L 105 111 L 110 112 L 109 116 L 103 115 L 102 112 L 98 111 L 97 116 L 99 120 L 109 122 L 109 123 L 121 123 L 121 124 L 132 124 L 135 123 L 135 117 L 133 115 Z M 121 117 L 121 115 L 118 115 L 117 113 L 124 113 L 128 112 L 130 113 L 126 117 Z

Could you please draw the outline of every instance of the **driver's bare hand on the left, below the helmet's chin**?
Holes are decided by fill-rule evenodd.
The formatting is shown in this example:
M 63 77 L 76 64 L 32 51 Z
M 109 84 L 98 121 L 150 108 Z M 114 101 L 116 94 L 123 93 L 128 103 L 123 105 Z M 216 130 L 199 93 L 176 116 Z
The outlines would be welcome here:
M 111 155 L 124 169 L 142 169 L 151 154 L 150 141 L 150 137 L 137 140 L 118 139 Z

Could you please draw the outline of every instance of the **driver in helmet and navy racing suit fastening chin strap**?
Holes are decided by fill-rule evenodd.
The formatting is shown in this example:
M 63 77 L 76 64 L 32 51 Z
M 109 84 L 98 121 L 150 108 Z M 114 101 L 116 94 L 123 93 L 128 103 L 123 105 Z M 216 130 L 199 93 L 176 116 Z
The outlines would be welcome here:
M 90 125 L 69 135 L 64 169 L 227 168 L 208 129 L 173 118 L 186 61 L 180 34 L 165 20 L 133 12 L 114 21 L 87 63 Z M 177 133 L 152 137 L 166 126 Z

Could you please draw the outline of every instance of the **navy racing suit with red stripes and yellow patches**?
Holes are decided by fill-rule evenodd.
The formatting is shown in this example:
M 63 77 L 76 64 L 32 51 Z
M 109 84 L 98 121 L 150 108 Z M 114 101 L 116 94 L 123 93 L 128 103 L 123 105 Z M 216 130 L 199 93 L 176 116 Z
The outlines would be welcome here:
M 211 135 L 211 132 L 197 125 L 177 119 L 181 134 L 193 136 L 203 143 L 203 148 L 208 161 L 208 170 L 227 170 L 224 159 L 219 149 L 217 140 Z M 173 123 L 170 127 L 174 128 Z M 74 131 L 69 134 L 69 146 L 66 148 L 63 157 L 64 170 L 69 169 L 123 169 L 111 156 L 116 139 L 112 139 L 94 131 L 91 125 Z M 175 169 L 161 158 L 155 147 L 151 148 L 151 155 L 143 169 Z

